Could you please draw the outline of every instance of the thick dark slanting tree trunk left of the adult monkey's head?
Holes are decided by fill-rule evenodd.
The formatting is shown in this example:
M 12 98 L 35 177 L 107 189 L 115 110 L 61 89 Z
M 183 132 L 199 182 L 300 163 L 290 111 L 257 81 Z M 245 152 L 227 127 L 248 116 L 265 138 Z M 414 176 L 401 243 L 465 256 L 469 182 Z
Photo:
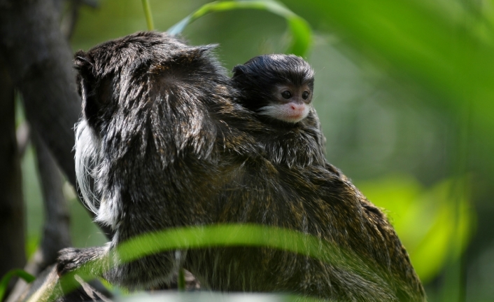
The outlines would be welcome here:
M 80 114 L 72 53 L 48 0 L 0 0 L 0 55 L 22 92 L 27 120 L 71 184 L 73 125 Z

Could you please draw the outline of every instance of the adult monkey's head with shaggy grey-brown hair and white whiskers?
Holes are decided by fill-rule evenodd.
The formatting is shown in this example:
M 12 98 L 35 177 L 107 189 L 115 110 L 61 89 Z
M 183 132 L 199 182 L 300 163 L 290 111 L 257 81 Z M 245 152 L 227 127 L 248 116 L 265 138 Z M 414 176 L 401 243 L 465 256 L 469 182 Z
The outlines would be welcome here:
M 99 221 L 115 221 L 105 213 L 115 211 L 105 209 L 103 200 L 164 182 L 151 175 L 178 160 L 211 160 L 216 128 L 205 118 L 207 106 L 227 102 L 232 90 L 212 48 L 140 32 L 76 53 L 83 99 L 76 176 Z

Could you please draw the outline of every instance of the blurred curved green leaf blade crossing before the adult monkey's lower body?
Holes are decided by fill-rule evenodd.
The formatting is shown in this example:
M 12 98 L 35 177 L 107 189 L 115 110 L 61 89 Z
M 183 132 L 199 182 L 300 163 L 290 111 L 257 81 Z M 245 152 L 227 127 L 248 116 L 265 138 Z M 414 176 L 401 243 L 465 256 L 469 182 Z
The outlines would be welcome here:
M 360 274 L 372 271 L 377 275 L 386 275 L 386 272 L 383 272 L 375 263 L 341 245 L 334 245 L 314 235 L 286 228 L 255 224 L 190 226 L 146 233 L 120 243 L 116 253 L 120 263 L 128 263 L 144 256 L 166 251 L 241 246 L 279 249 L 309 256 Z M 62 277 L 64 290 L 70 291 L 77 287 L 77 283 L 73 280 L 76 274 L 84 280 L 90 280 L 94 275 L 99 275 L 101 270 L 104 268 L 99 266 L 99 263 L 86 263 L 77 271 Z M 87 272 L 92 272 L 92 275 Z M 97 274 L 94 274 L 95 272 Z

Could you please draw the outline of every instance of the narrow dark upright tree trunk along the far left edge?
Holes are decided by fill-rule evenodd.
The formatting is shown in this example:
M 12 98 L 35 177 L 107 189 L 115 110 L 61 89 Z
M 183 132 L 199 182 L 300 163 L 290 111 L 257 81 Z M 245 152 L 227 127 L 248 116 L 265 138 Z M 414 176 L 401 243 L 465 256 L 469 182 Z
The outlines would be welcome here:
M 0 60 L 0 277 L 8 270 L 22 268 L 24 249 L 24 208 L 20 158 L 15 139 L 14 88 Z

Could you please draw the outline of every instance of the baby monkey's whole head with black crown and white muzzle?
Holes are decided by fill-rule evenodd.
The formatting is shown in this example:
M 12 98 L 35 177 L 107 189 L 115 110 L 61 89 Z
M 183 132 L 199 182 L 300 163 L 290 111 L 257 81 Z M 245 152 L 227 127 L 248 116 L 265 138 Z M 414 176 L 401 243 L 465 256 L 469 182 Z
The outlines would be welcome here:
M 296 55 L 260 55 L 233 69 L 244 107 L 262 116 L 297 123 L 309 114 L 314 71 Z

